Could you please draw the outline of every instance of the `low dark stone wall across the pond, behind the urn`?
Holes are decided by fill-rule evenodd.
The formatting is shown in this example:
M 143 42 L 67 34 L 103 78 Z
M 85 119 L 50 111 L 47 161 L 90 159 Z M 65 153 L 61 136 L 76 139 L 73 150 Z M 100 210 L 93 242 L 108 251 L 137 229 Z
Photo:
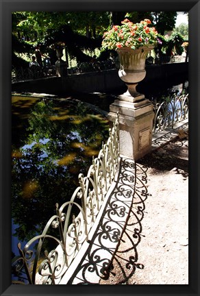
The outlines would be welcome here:
M 146 66 L 147 75 L 140 84 L 156 82 L 157 79 L 170 79 L 177 75 L 188 75 L 188 62 Z M 67 77 L 48 77 L 23 82 L 13 82 L 13 92 L 49 93 L 64 95 L 71 92 L 105 93 L 123 88 L 124 82 L 118 77 L 116 69 L 77 73 Z

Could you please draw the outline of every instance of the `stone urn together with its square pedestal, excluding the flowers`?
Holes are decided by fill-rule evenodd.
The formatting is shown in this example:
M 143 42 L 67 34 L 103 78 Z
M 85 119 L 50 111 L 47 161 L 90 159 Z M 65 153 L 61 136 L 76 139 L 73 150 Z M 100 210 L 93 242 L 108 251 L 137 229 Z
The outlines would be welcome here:
M 153 47 L 118 49 L 119 77 L 127 85 L 127 92 L 110 105 L 108 119 L 114 121 L 119 113 L 120 154 L 138 160 L 151 151 L 153 104 L 137 92 L 138 82 L 145 78 L 145 60 Z

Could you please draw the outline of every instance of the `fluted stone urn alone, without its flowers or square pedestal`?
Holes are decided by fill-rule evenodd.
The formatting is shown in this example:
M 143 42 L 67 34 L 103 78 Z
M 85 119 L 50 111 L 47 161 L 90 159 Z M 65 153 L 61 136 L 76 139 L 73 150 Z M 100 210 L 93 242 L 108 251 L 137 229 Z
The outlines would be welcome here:
M 139 49 L 131 49 L 129 47 L 117 49 L 120 61 L 118 75 L 128 88 L 123 95 L 134 97 L 134 101 L 137 101 L 139 99 L 137 97 L 141 96 L 137 92 L 136 86 L 146 76 L 145 60 L 151 49 L 153 49 L 153 45 L 143 46 Z

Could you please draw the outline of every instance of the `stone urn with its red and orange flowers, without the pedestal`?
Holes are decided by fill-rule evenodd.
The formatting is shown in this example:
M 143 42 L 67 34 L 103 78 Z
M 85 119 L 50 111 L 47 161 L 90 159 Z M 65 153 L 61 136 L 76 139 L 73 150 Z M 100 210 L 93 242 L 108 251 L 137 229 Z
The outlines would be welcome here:
M 145 78 L 147 54 L 160 40 L 155 27 L 149 27 L 149 19 L 132 23 L 125 18 L 121 23 L 121 26 L 114 25 L 103 34 L 102 49 L 117 51 L 120 62 L 118 75 L 128 88 L 124 95 L 133 97 L 136 101 L 145 97 L 136 91 L 136 86 Z

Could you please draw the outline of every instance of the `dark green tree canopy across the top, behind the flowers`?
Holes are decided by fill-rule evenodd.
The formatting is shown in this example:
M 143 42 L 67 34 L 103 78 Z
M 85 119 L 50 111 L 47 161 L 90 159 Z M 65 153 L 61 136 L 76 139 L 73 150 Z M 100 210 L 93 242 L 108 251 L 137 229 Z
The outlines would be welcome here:
M 175 28 L 176 16 L 177 12 L 12 12 L 12 64 L 24 64 L 17 53 L 33 53 L 37 43 L 48 52 L 57 41 L 65 43 L 71 58 L 85 62 L 90 58 L 86 50 L 101 49 L 103 33 L 125 17 L 134 23 L 149 18 L 164 35 Z

